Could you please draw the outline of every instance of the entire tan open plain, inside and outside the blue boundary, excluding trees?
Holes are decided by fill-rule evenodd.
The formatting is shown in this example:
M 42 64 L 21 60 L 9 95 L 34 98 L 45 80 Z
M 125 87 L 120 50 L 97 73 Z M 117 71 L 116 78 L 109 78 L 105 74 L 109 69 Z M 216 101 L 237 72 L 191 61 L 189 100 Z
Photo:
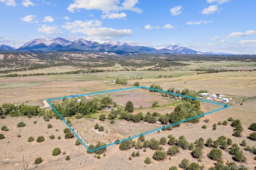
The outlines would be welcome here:
M 183 66 L 184 70 L 179 71 L 175 69 L 173 71 L 118 71 L 118 72 L 104 72 L 104 73 L 91 73 L 91 74 L 70 74 L 70 75 L 47 75 L 47 76 L 31 76 L 31 77 L 8 77 L 0 78 L 0 105 L 4 103 L 25 103 L 28 105 L 40 105 L 43 106 L 42 101 L 48 98 L 64 97 L 69 95 L 86 94 L 99 91 L 108 91 L 113 89 L 122 89 L 132 87 L 135 82 L 139 82 L 142 86 L 149 87 L 152 83 L 157 83 L 164 90 L 170 87 L 175 89 L 194 89 L 195 91 L 208 90 L 208 93 L 223 94 L 232 98 L 230 107 L 223 111 L 214 112 L 210 115 L 200 118 L 200 122 L 197 124 L 182 123 L 180 127 L 176 127 L 172 130 L 165 130 L 160 133 L 152 132 L 147 134 L 146 139 L 150 140 L 155 138 L 159 140 L 161 137 L 167 138 L 168 134 L 172 134 L 176 138 L 184 135 L 188 142 L 194 142 L 196 139 L 202 137 L 204 142 L 207 138 L 216 140 L 219 136 L 226 136 L 231 138 L 233 143 L 238 145 L 242 140 L 246 140 L 250 146 L 256 146 L 255 141 L 248 139 L 250 133 L 253 131 L 248 129 L 252 123 L 255 122 L 256 117 L 256 72 L 255 71 L 235 71 L 235 72 L 221 72 L 221 73 L 202 73 L 203 71 L 189 71 L 193 68 L 214 68 L 218 65 L 218 62 L 210 63 L 195 63 L 195 65 Z M 231 62 L 231 61 L 230 61 Z M 233 61 L 232 61 L 233 62 Z M 192 63 L 193 64 L 193 63 Z M 205 65 L 204 65 L 205 64 Z M 252 63 L 237 63 L 232 64 L 234 67 L 254 67 Z M 221 65 L 221 67 L 228 67 Z M 217 66 L 216 66 L 217 67 Z M 65 67 L 63 67 L 64 69 Z M 73 69 L 66 67 L 67 69 Z M 218 68 L 217 68 L 218 69 Z M 48 70 L 47 70 L 48 71 Z M 36 71 L 34 71 L 36 72 Z M 34 73 L 33 72 L 33 73 Z M 171 78 L 155 78 L 159 75 L 170 75 Z M 113 79 L 124 77 L 128 80 L 127 85 L 117 85 L 112 82 Z M 132 79 L 133 77 L 142 77 L 142 79 Z M 139 92 L 139 93 L 137 93 Z M 141 95 L 138 95 L 141 94 Z M 105 95 L 105 94 L 104 94 Z M 119 105 L 125 105 L 130 100 L 134 103 L 134 114 L 142 112 L 144 115 L 146 112 L 154 111 L 165 114 L 170 113 L 174 106 L 168 107 L 156 107 L 147 109 L 138 109 L 140 105 L 143 107 L 151 107 L 154 101 L 158 101 L 159 105 L 168 105 L 170 103 L 176 103 L 178 100 L 171 100 L 163 98 L 159 93 L 150 93 L 145 89 L 133 89 L 129 91 L 122 91 L 118 93 L 109 93 L 116 103 Z M 244 101 L 243 101 L 244 100 Z M 232 102 L 234 104 L 232 104 Z M 242 105 L 240 105 L 242 103 Z M 212 105 L 210 103 L 201 102 L 201 108 L 204 112 L 211 111 L 219 108 L 219 106 Z M 96 113 L 96 115 L 100 114 Z M 107 112 L 104 112 L 108 114 Z M 232 136 L 233 127 L 228 122 L 227 126 L 217 125 L 216 130 L 212 130 L 212 125 L 223 122 L 229 117 L 239 119 L 242 123 L 244 130 L 242 131 L 241 137 Z M 205 120 L 209 119 L 209 123 Z M 16 127 L 16 124 L 20 121 L 26 123 L 25 127 Z M 33 124 L 34 121 L 38 123 Z M 106 143 L 114 142 L 116 138 L 126 138 L 127 136 L 133 136 L 134 134 L 140 134 L 151 129 L 161 127 L 157 124 L 149 124 L 141 121 L 140 123 L 132 123 L 124 120 L 116 120 L 114 125 L 110 124 L 109 120 L 104 122 L 96 119 L 74 119 L 71 118 L 71 122 L 74 124 L 74 128 L 78 130 L 78 134 L 85 136 L 84 139 L 88 144 L 96 144 L 98 141 Z M 94 129 L 94 125 L 98 123 L 104 126 L 103 132 L 98 132 Z M 52 124 L 52 128 L 47 128 L 48 124 Z M 4 132 L 5 138 L 0 140 L 0 166 L 1 169 L 22 169 L 24 155 L 25 166 L 28 165 L 28 169 L 106 169 L 106 170 L 130 170 L 130 169 L 168 169 L 170 166 L 177 166 L 181 160 L 186 158 L 190 162 L 196 162 L 200 165 L 204 164 L 204 170 L 208 170 L 209 167 L 214 166 L 216 161 L 210 160 L 207 154 L 212 148 L 204 146 L 203 155 L 201 157 L 202 162 L 198 162 L 198 159 L 191 156 L 191 151 L 182 150 L 174 156 L 171 156 L 171 160 L 166 156 L 164 160 L 156 161 L 152 159 L 152 155 L 155 150 L 150 148 L 143 152 L 140 149 L 140 156 L 128 160 L 133 151 L 137 151 L 134 147 L 126 151 L 120 151 L 118 146 L 113 145 L 106 149 L 106 156 L 100 155 L 100 159 L 94 158 L 95 154 L 88 154 L 86 148 L 82 145 L 76 146 L 76 137 L 71 139 L 65 139 L 63 130 L 66 128 L 66 124 L 61 120 L 50 119 L 49 122 L 45 122 L 42 117 L 7 117 L 6 119 L 0 119 L 0 127 L 7 126 L 8 131 Z M 207 128 L 201 128 L 202 125 L 206 125 Z M 141 130 L 143 128 L 143 130 Z M 56 131 L 58 129 L 58 131 Z M 108 130 L 106 133 L 105 130 Z M 110 140 L 110 131 L 111 141 Z M 18 138 L 18 134 L 21 135 Z M 55 139 L 50 139 L 50 135 L 54 135 Z M 35 139 L 38 136 L 44 136 L 46 139 L 42 143 L 36 141 L 27 142 L 28 137 L 33 136 Z M 61 139 L 57 139 L 61 136 Z M 134 139 L 137 140 L 137 139 Z M 55 147 L 61 149 L 59 156 L 52 156 L 52 150 Z M 170 147 L 168 144 L 162 146 L 165 151 Z M 239 146 L 244 148 L 244 146 Z M 66 155 L 70 156 L 70 160 L 66 161 L 66 155 L 63 155 L 63 151 Z M 252 165 L 255 166 L 254 154 L 243 150 L 244 156 L 246 156 L 246 162 L 236 162 L 240 165 Z M 228 154 L 227 151 L 222 150 L 222 159 L 224 162 L 234 162 L 232 155 Z M 151 158 L 150 164 L 145 164 L 144 160 L 146 157 Z M 37 167 L 33 164 L 37 157 L 42 157 L 44 162 L 39 164 Z M 181 169 L 181 168 L 180 168 Z

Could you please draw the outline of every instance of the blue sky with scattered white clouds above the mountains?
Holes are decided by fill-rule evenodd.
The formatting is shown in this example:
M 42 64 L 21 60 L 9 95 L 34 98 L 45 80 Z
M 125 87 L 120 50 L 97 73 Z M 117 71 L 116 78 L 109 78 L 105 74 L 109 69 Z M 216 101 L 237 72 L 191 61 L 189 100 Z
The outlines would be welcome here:
M 256 1 L 0 0 L 0 43 L 57 37 L 256 54 Z

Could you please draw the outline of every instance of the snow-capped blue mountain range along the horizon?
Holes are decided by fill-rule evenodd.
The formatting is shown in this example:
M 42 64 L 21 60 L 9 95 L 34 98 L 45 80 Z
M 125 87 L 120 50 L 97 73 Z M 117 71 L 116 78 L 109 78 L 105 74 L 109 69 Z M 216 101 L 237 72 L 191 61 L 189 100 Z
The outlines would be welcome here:
M 126 42 L 104 42 L 98 43 L 84 39 L 68 41 L 63 38 L 46 40 L 39 38 L 25 43 L 19 48 L 10 45 L 0 45 L 0 50 L 8 51 L 31 51 L 31 52 L 50 52 L 50 51 L 108 51 L 118 54 L 122 53 L 177 53 L 177 54 L 208 54 L 208 55 L 230 55 L 222 52 L 201 52 L 178 45 L 171 45 L 162 49 L 152 47 L 130 45 Z

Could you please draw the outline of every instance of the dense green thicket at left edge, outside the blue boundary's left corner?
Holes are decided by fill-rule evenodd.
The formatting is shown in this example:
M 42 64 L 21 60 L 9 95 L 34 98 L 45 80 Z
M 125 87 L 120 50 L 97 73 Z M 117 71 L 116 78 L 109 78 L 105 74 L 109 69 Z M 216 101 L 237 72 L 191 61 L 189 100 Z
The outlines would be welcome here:
M 5 103 L 0 107 L 1 119 L 5 118 L 5 115 L 15 116 L 41 116 L 44 115 L 44 109 L 40 109 L 39 106 L 28 106 L 22 103 L 15 106 L 14 104 Z

